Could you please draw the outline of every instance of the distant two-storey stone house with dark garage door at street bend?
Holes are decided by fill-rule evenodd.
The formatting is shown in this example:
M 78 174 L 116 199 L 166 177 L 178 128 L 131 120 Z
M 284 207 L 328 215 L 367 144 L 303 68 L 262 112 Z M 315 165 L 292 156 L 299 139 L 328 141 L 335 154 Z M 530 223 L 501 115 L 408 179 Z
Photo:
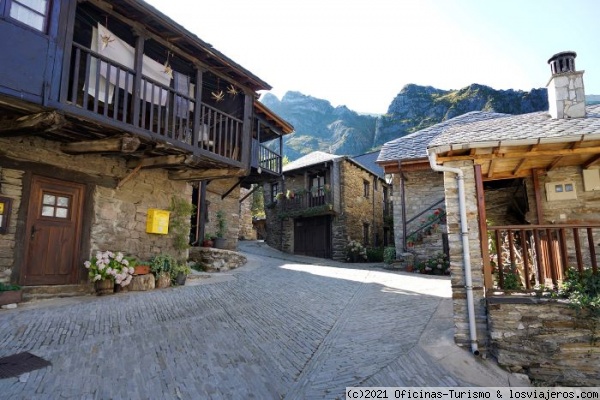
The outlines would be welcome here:
M 346 260 L 350 240 L 383 246 L 391 228 L 383 218 L 388 193 L 383 177 L 355 159 L 309 153 L 284 166 L 283 179 L 264 185 L 266 242 L 335 260 Z

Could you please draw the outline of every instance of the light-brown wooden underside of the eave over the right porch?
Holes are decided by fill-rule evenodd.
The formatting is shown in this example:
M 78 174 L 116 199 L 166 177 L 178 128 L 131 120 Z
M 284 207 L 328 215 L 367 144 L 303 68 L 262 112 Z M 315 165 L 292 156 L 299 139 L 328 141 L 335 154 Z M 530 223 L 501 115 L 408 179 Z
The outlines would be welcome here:
M 437 154 L 439 164 L 465 160 L 473 160 L 481 166 L 485 181 L 527 177 L 533 170 L 551 171 L 568 166 L 590 168 L 600 165 L 600 140 L 515 143 L 453 149 Z

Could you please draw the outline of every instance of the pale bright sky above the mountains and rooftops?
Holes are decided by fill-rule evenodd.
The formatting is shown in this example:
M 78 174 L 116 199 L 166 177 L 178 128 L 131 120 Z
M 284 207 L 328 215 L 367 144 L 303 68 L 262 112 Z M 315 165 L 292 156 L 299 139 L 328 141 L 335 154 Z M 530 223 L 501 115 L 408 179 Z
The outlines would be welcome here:
M 269 83 L 385 113 L 408 83 L 545 87 L 548 59 L 577 52 L 600 95 L 597 0 L 150 0 Z

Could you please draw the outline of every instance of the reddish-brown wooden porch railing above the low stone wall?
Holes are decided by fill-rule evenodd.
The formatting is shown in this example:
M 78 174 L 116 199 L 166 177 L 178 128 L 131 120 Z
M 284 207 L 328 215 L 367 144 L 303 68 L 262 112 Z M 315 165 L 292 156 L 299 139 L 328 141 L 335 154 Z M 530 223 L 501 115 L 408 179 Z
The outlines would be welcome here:
M 487 233 L 482 254 L 488 289 L 556 287 L 568 268 L 598 270 L 600 224 L 488 226 Z

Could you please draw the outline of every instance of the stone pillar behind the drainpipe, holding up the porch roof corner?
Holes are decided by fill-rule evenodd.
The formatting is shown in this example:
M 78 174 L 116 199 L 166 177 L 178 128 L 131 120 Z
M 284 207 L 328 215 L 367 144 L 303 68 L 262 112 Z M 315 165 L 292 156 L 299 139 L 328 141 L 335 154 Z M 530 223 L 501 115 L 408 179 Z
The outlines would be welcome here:
M 444 164 L 445 167 L 460 168 L 464 173 L 465 206 L 467 214 L 469 255 L 471 258 L 471 276 L 477 339 L 480 351 L 485 349 L 487 317 L 483 292 L 483 260 L 479 245 L 479 227 L 477 196 L 475 192 L 475 172 L 471 161 L 455 161 Z M 450 245 L 450 271 L 452 300 L 454 309 L 454 340 L 459 346 L 469 346 L 469 319 L 465 288 L 465 266 L 463 245 L 460 232 L 458 180 L 456 174 L 444 172 L 444 188 L 447 211 L 448 242 Z

